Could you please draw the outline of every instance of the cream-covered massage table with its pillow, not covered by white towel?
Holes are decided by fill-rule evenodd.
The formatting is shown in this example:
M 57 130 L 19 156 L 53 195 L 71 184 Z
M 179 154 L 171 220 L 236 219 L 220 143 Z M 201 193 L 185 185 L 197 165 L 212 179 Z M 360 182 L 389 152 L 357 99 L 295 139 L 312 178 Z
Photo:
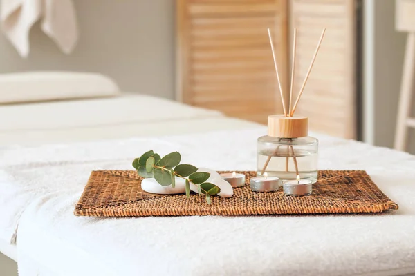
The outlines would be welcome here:
M 20 146 L 252 126 L 259 125 L 225 117 L 215 110 L 121 92 L 115 81 L 100 74 L 24 72 L 0 75 L 0 157 L 4 157 L 4 150 Z M 15 242 L 10 243 L 10 237 L 2 235 L 2 230 L 0 252 L 17 262 Z

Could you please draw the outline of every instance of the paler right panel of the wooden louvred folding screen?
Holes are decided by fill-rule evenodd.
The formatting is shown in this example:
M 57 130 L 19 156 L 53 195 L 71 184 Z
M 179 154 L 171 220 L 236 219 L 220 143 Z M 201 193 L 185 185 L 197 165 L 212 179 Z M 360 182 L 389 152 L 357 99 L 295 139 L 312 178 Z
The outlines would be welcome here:
M 345 138 L 356 138 L 355 8 L 353 0 L 293 0 L 289 12 L 297 27 L 295 91 L 326 28 L 296 113 L 309 117 L 311 130 Z

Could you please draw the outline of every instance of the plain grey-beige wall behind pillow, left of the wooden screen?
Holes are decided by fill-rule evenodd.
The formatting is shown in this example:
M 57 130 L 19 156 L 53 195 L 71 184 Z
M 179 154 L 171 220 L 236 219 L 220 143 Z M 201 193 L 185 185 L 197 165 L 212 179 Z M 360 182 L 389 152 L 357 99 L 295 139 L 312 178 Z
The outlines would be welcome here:
M 26 70 L 102 72 L 122 90 L 174 97 L 173 0 L 75 0 L 80 40 L 72 55 L 34 26 L 21 59 L 0 35 L 0 73 Z

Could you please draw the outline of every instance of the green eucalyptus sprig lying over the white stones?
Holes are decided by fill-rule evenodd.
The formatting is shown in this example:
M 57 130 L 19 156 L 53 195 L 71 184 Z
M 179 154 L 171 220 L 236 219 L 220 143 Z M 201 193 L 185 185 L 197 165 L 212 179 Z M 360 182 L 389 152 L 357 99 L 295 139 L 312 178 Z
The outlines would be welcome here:
M 172 185 L 176 186 L 176 179 L 174 177 L 181 177 L 185 179 L 186 197 L 190 197 L 190 183 L 198 186 L 199 195 L 203 194 L 206 201 L 210 204 L 210 196 L 216 195 L 221 191 L 221 188 L 206 182 L 209 179 L 209 172 L 197 172 L 198 168 L 190 164 L 180 164 L 181 154 L 178 152 L 171 152 L 165 157 L 153 150 L 149 150 L 136 158 L 133 161 L 133 167 L 136 168 L 138 175 L 145 178 L 154 177 L 161 186 Z

